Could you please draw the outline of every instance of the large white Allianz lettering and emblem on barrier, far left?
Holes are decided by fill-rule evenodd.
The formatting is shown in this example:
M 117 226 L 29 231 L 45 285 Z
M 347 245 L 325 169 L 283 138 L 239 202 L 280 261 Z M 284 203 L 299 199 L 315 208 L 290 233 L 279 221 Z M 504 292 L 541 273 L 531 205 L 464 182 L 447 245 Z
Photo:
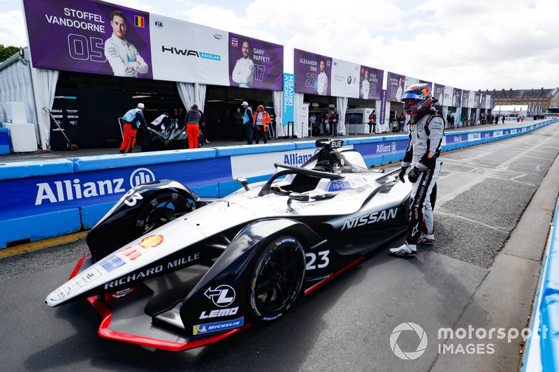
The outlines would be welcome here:
M 130 174 L 130 187 L 155 181 L 155 175 L 147 168 L 138 168 Z M 83 182 L 79 178 L 64 181 L 42 182 L 37 184 L 35 205 L 94 198 L 101 195 L 111 195 L 126 192 L 124 178 L 100 179 L 98 181 Z

